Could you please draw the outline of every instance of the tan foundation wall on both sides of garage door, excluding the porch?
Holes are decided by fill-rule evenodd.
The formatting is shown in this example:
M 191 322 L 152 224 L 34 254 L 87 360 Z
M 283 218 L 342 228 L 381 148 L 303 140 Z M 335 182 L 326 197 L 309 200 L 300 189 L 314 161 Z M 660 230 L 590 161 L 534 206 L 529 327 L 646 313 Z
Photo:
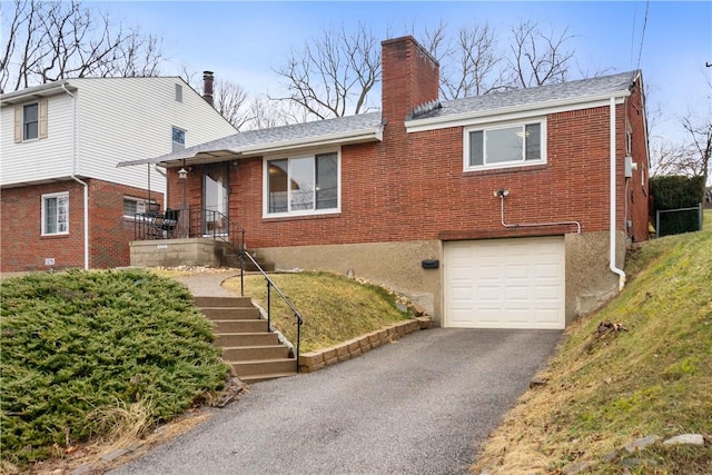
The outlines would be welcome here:
M 609 232 L 565 235 L 566 325 L 614 297 L 619 277 L 609 268 Z M 626 241 L 617 234 L 616 264 L 623 267 Z M 296 246 L 257 249 L 279 270 L 327 270 L 383 284 L 421 304 L 436 325 L 444 316 L 443 241 Z M 423 260 L 438 260 L 423 268 Z

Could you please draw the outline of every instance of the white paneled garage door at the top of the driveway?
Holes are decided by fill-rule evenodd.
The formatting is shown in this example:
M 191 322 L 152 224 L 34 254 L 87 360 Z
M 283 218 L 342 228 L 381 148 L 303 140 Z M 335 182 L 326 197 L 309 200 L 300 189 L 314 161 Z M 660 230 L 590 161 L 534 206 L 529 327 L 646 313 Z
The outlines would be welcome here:
M 445 324 L 564 328 L 564 238 L 445 243 Z

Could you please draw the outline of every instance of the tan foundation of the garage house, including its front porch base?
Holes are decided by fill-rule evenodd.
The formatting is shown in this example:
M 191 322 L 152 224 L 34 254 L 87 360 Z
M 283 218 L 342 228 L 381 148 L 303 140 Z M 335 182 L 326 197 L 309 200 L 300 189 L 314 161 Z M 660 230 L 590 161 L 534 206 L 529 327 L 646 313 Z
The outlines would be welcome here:
M 619 277 L 609 268 L 609 232 L 570 234 L 564 237 L 566 325 L 614 297 Z M 623 267 L 626 241 L 617 234 L 616 265 Z M 206 238 L 134 241 L 131 266 L 228 266 L 229 247 Z M 374 243 L 294 246 L 253 249 L 277 270 L 325 270 L 385 285 L 419 304 L 443 324 L 443 241 Z M 424 266 L 427 261 L 429 266 Z M 236 267 L 237 264 L 233 264 Z

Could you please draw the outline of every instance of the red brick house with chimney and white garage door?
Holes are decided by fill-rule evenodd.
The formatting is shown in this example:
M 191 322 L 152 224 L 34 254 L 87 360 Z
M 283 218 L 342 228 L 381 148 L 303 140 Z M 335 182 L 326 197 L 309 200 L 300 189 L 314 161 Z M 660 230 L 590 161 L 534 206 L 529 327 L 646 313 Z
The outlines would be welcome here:
M 564 328 L 614 295 L 626 246 L 647 237 L 640 71 L 438 101 L 438 65 L 413 38 L 382 48 L 379 112 L 121 166 L 160 164 L 169 204 L 187 186 L 197 208 L 219 170 L 250 251 L 386 284 L 443 326 Z

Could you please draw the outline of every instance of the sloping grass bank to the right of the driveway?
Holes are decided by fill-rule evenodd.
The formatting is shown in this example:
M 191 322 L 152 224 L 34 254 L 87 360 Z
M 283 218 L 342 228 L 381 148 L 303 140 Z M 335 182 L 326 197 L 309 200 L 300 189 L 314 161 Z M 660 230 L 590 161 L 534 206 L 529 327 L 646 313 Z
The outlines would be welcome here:
M 520 399 L 473 473 L 560 473 L 574 462 L 587 474 L 712 473 L 712 212 L 703 231 L 636 247 L 626 271 L 610 305 L 567 328 L 545 385 Z M 605 461 L 639 437 L 685 433 L 706 445 L 655 444 L 632 467 Z

